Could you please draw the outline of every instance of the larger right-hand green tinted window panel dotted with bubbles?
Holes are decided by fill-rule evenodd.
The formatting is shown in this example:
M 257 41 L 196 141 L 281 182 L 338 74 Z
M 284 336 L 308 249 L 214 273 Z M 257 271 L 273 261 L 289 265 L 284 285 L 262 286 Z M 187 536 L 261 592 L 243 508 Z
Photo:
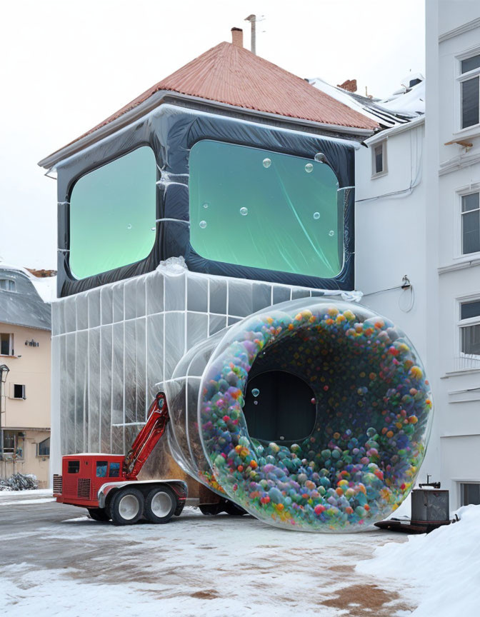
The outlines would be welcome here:
M 191 245 L 214 261 L 336 276 L 343 263 L 337 191 L 324 163 L 199 141 L 190 153 Z

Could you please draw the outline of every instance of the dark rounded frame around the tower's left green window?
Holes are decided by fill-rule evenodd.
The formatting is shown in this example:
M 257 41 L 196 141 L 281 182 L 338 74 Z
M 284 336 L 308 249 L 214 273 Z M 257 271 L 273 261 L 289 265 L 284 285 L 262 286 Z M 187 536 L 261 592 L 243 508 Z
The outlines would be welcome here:
M 89 174 L 91 174 L 94 171 L 97 171 L 99 169 L 101 169 L 102 167 L 106 167 L 107 165 L 114 163 L 115 161 L 118 161 L 119 159 L 123 159 L 125 156 L 129 156 L 129 154 L 132 154 L 134 151 L 139 150 L 141 148 L 149 148 L 150 151 L 153 153 L 154 155 L 154 160 L 155 160 L 155 166 L 156 166 L 156 181 L 155 181 L 155 203 L 154 203 L 154 220 L 155 220 L 155 234 L 154 234 L 154 239 L 153 239 L 153 244 L 151 246 L 150 251 L 148 252 L 148 254 L 146 254 L 146 256 L 144 256 L 142 259 L 139 259 L 138 261 L 134 261 L 132 264 L 124 264 L 122 266 L 117 266 L 116 268 L 110 269 L 110 270 L 104 270 L 101 271 L 97 274 L 91 274 L 89 276 L 84 276 L 83 278 L 78 278 L 74 272 L 71 269 L 70 266 L 70 251 L 71 251 L 71 228 L 70 228 L 70 208 L 71 208 L 71 197 L 72 194 L 74 192 L 75 186 L 76 184 L 79 183 L 79 181 L 84 178 L 85 176 L 88 176 Z M 75 176 L 73 176 L 69 183 L 68 183 L 68 189 L 67 189 L 67 203 L 68 203 L 68 215 L 66 217 L 66 231 L 68 234 L 68 241 L 66 244 L 66 249 L 58 249 L 58 251 L 61 251 L 63 253 L 66 253 L 68 255 L 68 259 L 67 264 L 66 264 L 66 269 L 69 275 L 69 279 L 75 283 L 82 283 L 82 281 L 91 281 L 92 279 L 97 279 L 99 276 L 104 276 L 104 274 L 106 274 L 107 272 L 116 272 L 116 271 L 121 271 L 122 269 L 128 268 L 129 266 L 133 266 L 134 264 L 142 264 L 144 261 L 148 260 L 149 257 L 151 256 L 152 252 L 155 251 L 156 248 L 156 244 L 158 243 L 159 239 L 158 239 L 158 234 L 159 234 L 159 191 L 157 190 L 157 185 L 159 183 L 159 160 L 156 154 L 156 151 L 154 149 L 154 147 L 152 146 L 151 143 L 149 143 L 148 141 L 139 141 L 138 143 L 134 144 L 133 146 L 131 146 L 128 150 L 126 151 L 119 151 L 115 153 L 115 156 L 111 156 L 109 158 L 105 158 L 102 159 L 101 161 L 95 161 L 94 166 L 91 167 L 86 167 L 84 169 L 82 169 L 82 171 L 79 174 L 76 174 Z

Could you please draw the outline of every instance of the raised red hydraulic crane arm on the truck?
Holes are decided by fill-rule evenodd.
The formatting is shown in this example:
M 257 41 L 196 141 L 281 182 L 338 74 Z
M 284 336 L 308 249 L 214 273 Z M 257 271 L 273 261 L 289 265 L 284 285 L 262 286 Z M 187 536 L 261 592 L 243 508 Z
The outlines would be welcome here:
M 169 408 L 166 404 L 165 394 L 159 392 L 154 402 L 151 403 L 145 426 L 136 436 L 129 453 L 125 457 L 124 475 L 126 478 L 134 480 L 139 475 L 156 442 L 164 434 L 169 419 Z

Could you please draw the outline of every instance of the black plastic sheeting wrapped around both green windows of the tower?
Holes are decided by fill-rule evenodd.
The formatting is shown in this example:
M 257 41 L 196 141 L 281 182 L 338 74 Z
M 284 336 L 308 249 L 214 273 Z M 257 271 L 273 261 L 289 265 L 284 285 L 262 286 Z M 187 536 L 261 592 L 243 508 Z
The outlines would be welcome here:
M 213 139 L 230 144 L 314 159 L 323 153 L 338 180 L 339 188 L 354 186 L 354 145 L 327 136 L 301 133 L 266 124 L 194 111 L 163 104 L 144 119 L 126 126 L 71 156 L 58 171 L 58 295 L 69 296 L 113 281 L 128 279 L 156 269 L 160 261 L 184 256 L 191 271 L 233 276 L 239 279 L 271 281 L 316 289 L 354 289 L 354 189 L 344 192 L 344 265 L 331 279 L 251 268 L 204 259 L 190 244 L 189 152 L 197 141 Z M 75 182 L 84 174 L 139 146 L 151 146 L 158 171 L 156 240 L 150 254 L 135 264 L 76 280 L 69 269 L 69 199 Z M 95 221 L 92 221 L 92 225 Z M 301 247 L 299 247 L 301 250 Z

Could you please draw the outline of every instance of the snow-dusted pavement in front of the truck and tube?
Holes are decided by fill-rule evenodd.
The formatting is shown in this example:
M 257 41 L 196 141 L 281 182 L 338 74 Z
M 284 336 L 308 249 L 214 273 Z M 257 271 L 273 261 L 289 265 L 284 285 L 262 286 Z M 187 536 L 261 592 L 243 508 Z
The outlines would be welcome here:
M 393 617 L 414 608 L 407 581 L 355 571 L 405 536 L 284 531 L 195 508 L 165 526 L 114 527 L 49 499 L 0 496 L 0 611 L 9 617 Z

